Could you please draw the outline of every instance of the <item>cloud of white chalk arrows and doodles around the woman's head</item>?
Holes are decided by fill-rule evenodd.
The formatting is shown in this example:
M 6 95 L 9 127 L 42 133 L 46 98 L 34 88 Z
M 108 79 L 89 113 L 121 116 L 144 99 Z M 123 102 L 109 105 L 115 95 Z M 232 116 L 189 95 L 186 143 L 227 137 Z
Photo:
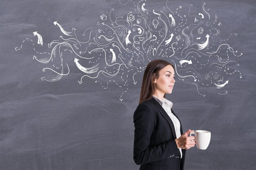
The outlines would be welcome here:
M 214 87 L 218 94 L 226 95 L 224 88 L 232 81 L 231 76 L 242 78 L 240 71 L 231 66 L 239 66 L 235 60 L 243 53 L 238 54 L 228 44 L 228 39 L 237 34 L 231 33 L 227 40 L 218 42 L 216 37 L 221 34 L 222 23 L 213 10 L 205 9 L 205 3 L 201 9 L 193 9 L 196 13 L 191 13 L 192 4 L 186 13 L 182 13 L 182 6 L 171 11 L 168 0 L 159 11 L 147 8 L 149 2 L 146 0 L 128 2 L 134 3 L 132 11 L 114 17 L 115 9 L 111 9 L 109 14 L 99 15 L 95 26 L 85 29 L 81 36 L 76 35 L 74 28 L 65 31 L 61 23 L 55 21 L 53 24 L 62 33 L 58 40 L 43 44 L 40 31 L 34 31 L 38 42 L 27 38 L 15 50 L 20 51 L 23 44 L 32 42 L 33 60 L 51 64 L 51 68 L 43 68 L 43 81 L 60 80 L 75 64 L 81 71 L 79 84 L 97 79 L 95 83 L 108 88 L 114 83 L 124 88 L 119 97 L 121 101 L 128 91 L 128 82 L 136 84 L 135 75 L 143 72 L 155 59 L 173 62 L 177 77 L 196 86 L 195 90 L 202 96 L 205 96 L 203 87 Z M 128 5 L 128 2 L 119 1 L 122 5 Z M 48 51 L 37 52 L 35 47 L 40 46 L 48 46 Z M 72 57 L 73 62 L 66 62 L 65 57 Z

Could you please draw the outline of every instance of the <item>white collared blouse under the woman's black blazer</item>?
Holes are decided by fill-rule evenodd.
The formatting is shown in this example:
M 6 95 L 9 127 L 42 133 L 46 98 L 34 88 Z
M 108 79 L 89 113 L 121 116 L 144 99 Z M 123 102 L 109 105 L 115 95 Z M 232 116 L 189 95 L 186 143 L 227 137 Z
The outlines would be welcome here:
M 180 134 L 180 121 L 179 119 L 177 119 L 177 117 L 175 115 L 173 115 L 173 113 L 171 112 L 171 108 L 173 106 L 173 103 L 169 100 L 167 100 L 166 98 L 164 98 L 163 100 L 158 99 L 155 95 L 153 95 L 153 97 L 157 100 L 157 102 L 159 102 L 159 104 L 164 108 L 164 110 L 166 111 L 166 113 L 168 114 L 168 116 L 171 118 L 171 120 L 173 121 L 173 125 L 175 128 L 175 133 L 176 133 L 176 137 L 179 138 L 181 136 Z M 180 159 L 182 158 L 182 150 L 181 148 L 179 148 L 180 150 Z

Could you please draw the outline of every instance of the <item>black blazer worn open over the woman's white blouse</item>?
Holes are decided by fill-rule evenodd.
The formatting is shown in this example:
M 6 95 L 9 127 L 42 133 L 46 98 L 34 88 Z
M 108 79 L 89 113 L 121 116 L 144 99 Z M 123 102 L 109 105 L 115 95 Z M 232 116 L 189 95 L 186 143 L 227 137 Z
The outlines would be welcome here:
M 133 122 L 133 159 L 137 165 L 141 165 L 139 170 L 184 169 L 186 150 L 182 149 L 180 159 L 173 121 L 154 97 L 137 106 Z M 181 124 L 180 133 L 183 134 Z

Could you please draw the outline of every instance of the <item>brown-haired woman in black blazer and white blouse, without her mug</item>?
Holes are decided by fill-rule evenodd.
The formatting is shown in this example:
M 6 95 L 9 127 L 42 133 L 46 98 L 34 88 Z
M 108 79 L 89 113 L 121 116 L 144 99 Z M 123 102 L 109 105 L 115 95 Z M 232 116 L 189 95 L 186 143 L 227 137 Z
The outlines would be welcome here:
M 139 170 L 183 170 L 185 151 L 195 146 L 195 137 L 189 136 L 194 130 L 183 134 L 173 103 L 165 99 L 173 91 L 174 77 L 173 65 L 165 60 L 153 60 L 145 69 L 133 115 L 133 159 Z

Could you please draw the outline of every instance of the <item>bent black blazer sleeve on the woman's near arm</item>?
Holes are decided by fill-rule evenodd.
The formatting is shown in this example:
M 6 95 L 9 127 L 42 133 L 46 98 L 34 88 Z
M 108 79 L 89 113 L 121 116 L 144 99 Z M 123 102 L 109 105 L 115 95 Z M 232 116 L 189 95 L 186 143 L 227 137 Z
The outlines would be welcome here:
M 135 126 L 133 159 L 137 165 L 166 159 L 170 155 L 179 155 L 175 139 L 150 147 L 150 138 L 155 122 L 150 107 L 139 104 L 133 115 Z

